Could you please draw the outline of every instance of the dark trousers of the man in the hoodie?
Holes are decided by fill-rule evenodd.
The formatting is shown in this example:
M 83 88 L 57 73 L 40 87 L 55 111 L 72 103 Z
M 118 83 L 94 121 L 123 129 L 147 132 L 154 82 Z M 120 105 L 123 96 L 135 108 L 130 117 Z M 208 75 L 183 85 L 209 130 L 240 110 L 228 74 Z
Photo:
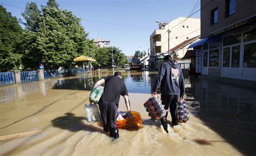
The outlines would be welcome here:
M 161 94 L 162 104 L 164 105 L 165 110 L 168 110 L 170 107 L 172 125 L 178 124 L 178 111 L 177 106 L 179 102 L 179 96 Z M 165 119 L 168 116 L 168 112 L 165 115 Z

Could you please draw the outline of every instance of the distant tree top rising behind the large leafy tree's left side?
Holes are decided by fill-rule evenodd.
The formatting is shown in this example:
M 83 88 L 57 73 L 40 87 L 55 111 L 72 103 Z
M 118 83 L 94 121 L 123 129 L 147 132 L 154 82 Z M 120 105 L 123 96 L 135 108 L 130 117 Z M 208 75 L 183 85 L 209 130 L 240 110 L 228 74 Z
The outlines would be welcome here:
M 37 8 L 36 3 L 27 3 L 25 12 L 22 12 L 22 16 L 26 20 L 26 23 L 23 24 L 26 26 L 26 29 L 32 32 L 38 31 L 38 22 L 41 11 Z

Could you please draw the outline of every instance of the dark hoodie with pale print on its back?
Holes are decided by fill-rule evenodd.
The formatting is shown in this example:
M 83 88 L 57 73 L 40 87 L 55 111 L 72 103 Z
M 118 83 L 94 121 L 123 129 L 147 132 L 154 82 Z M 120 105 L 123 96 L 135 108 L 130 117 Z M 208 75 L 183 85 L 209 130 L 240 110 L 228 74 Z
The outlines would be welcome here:
M 159 86 L 161 94 L 184 96 L 184 77 L 176 61 L 167 61 L 161 65 L 152 91 L 156 92 Z

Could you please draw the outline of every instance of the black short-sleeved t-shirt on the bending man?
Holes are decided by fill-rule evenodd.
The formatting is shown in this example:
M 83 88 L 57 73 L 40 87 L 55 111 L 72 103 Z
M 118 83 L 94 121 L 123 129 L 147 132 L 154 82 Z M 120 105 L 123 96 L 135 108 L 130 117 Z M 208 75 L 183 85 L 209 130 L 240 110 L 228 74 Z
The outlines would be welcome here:
M 119 104 L 120 95 L 128 96 L 128 91 L 123 80 L 117 76 L 107 76 L 105 79 L 105 87 L 99 101 L 107 101 Z

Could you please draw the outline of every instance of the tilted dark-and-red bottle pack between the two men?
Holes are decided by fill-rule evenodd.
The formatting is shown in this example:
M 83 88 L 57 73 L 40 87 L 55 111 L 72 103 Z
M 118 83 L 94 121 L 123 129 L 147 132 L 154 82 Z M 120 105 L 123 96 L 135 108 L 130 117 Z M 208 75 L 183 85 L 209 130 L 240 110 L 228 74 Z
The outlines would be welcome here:
M 151 120 L 157 121 L 163 118 L 166 114 L 164 105 L 158 100 L 157 96 L 153 96 L 144 103 L 146 111 L 149 112 Z

